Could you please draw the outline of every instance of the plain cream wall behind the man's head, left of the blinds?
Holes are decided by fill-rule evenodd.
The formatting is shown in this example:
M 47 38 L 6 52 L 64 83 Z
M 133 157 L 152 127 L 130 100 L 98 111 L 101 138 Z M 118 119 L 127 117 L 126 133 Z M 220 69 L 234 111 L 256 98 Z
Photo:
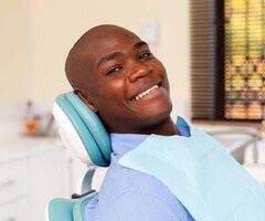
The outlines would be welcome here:
M 189 0 L 1 0 L 0 10 L 1 32 L 6 28 L 6 35 L 0 35 L 4 46 L 0 51 L 1 84 L 9 82 L 1 85 L 6 93 L 0 94 L 0 103 L 53 99 L 71 90 L 64 61 L 82 33 L 96 24 L 115 23 L 141 35 L 147 19 L 159 23 L 153 51 L 168 70 L 172 99 L 190 101 Z M 10 51 L 14 55 L 7 57 Z

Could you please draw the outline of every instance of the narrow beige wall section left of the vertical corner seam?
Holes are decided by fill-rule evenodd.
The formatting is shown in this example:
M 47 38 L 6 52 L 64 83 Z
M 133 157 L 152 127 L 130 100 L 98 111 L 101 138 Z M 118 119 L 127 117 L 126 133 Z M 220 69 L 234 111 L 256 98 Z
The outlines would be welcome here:
M 0 102 L 26 96 L 26 17 L 24 0 L 0 1 Z

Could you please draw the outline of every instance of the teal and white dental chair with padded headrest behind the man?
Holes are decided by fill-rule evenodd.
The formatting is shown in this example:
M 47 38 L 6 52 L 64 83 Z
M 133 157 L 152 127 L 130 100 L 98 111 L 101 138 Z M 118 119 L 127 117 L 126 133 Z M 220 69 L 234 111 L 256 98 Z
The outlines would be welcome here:
M 53 115 L 64 145 L 88 166 L 82 193 L 72 199 L 53 199 L 46 208 L 46 221 L 83 221 L 85 206 L 97 194 L 91 189 L 96 167 L 108 167 L 110 140 L 98 116 L 70 92 L 56 97 Z

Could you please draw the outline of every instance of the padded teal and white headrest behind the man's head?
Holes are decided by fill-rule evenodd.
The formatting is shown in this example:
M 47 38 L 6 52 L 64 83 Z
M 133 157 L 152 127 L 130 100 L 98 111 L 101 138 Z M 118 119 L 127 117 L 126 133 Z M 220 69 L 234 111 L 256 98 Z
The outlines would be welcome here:
M 99 117 L 74 93 L 56 97 L 53 115 L 64 144 L 87 165 L 107 167 L 110 140 Z

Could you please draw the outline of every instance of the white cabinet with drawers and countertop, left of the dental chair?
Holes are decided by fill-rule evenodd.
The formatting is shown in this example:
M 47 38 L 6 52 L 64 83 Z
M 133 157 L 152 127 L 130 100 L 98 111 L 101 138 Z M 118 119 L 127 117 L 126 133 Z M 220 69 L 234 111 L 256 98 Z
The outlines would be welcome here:
M 44 221 L 51 199 L 78 192 L 83 171 L 59 137 L 12 138 L 0 148 L 0 221 Z

